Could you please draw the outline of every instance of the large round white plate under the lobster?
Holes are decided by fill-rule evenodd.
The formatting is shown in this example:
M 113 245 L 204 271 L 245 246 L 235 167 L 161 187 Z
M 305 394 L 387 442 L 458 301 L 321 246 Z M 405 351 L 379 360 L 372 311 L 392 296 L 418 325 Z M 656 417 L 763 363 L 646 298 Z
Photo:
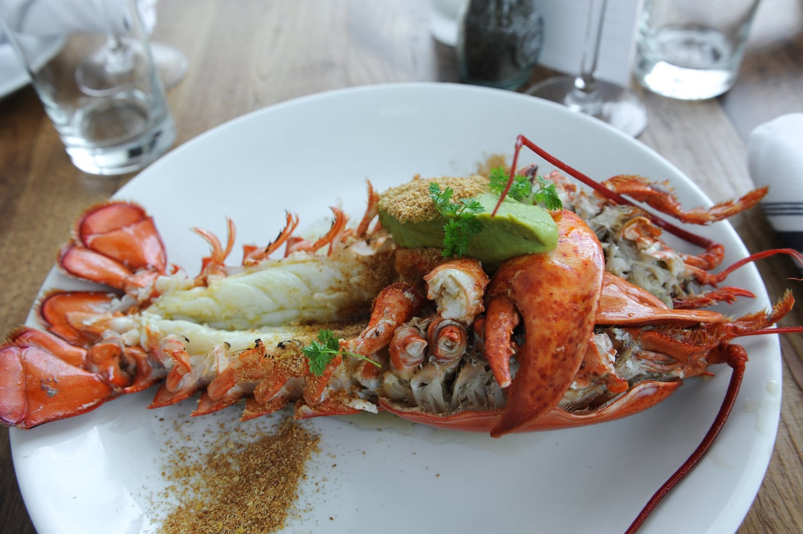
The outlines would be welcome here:
M 117 196 L 144 204 L 170 261 L 193 270 L 207 250 L 190 227 L 224 235 L 223 216 L 230 215 L 237 249 L 267 243 L 282 227 L 285 208 L 300 214 L 302 226 L 325 220 L 327 207 L 339 201 L 359 216 L 366 178 L 382 190 L 416 173 L 470 173 L 491 154 L 512 155 L 518 133 L 598 179 L 618 173 L 669 179 L 685 204 L 708 202 L 666 160 L 602 123 L 525 95 L 448 84 L 358 87 L 257 111 L 177 148 Z M 726 245 L 726 264 L 745 255 L 729 225 L 702 232 Z M 752 266 L 728 282 L 759 295 L 733 313 L 768 304 Z M 57 273 L 46 281 L 74 284 Z M 751 359 L 731 419 L 642 532 L 731 534 L 744 519 L 768 465 L 781 405 L 777 339 L 752 337 L 744 345 Z M 312 511 L 286 532 L 623 532 L 699 443 L 729 374 L 723 367 L 711 380 L 691 379 L 665 403 L 629 419 L 497 440 L 394 424 L 389 416 L 377 423 L 361 417 L 358 424 L 314 419 L 309 423 L 322 435 L 323 451 L 301 497 Z M 170 422 L 194 404 L 146 411 L 152 395 L 12 431 L 14 467 L 40 534 L 155 530 L 151 521 L 161 512 L 153 510 L 153 495 L 165 487 L 160 462 Z M 193 419 L 191 428 L 200 435 L 238 415 L 229 408 Z M 324 497 L 312 492 L 313 482 L 323 484 Z

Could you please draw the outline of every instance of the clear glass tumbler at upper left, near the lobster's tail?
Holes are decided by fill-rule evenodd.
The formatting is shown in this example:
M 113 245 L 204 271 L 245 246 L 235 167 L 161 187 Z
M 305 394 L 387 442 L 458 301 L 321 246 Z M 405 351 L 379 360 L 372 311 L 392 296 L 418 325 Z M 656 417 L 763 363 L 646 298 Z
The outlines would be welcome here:
M 14 5 L 0 2 L 0 30 L 76 167 L 132 172 L 172 146 L 173 118 L 135 0 L 59 0 L 17 12 Z

